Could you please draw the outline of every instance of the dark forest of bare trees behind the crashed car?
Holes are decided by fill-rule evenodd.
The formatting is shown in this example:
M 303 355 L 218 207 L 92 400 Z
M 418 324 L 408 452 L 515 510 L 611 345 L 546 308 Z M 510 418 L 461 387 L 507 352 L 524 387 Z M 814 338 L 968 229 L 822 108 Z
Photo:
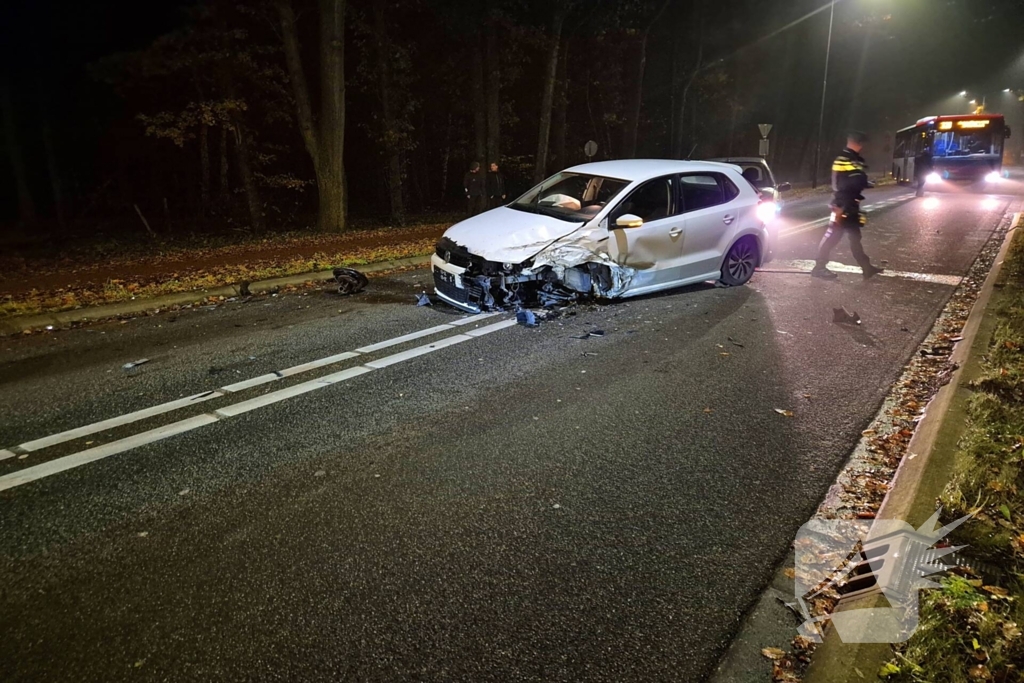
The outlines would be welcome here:
M 920 116 L 927 93 L 961 88 L 948 73 L 966 68 L 967 38 L 980 47 L 984 34 L 965 29 L 963 49 L 949 50 L 929 40 L 923 20 L 955 31 L 990 22 L 982 5 L 1001 5 L 953 0 L 936 19 L 913 0 L 901 12 L 894 4 L 841 3 L 828 154 L 856 126 L 880 133 L 881 157 L 886 131 Z M 89 11 L 79 8 L 54 19 L 42 44 L 56 47 L 12 57 L 31 68 L 0 83 L 9 161 L 2 220 L 5 231 L 56 234 L 142 223 L 252 232 L 342 231 L 350 217 L 401 224 L 461 209 L 473 161 L 498 162 L 514 196 L 586 161 L 591 139 L 596 160 L 756 155 L 758 123 L 775 126 L 777 175 L 809 179 L 827 36 L 821 8 L 821 0 L 202 0 L 165 8 L 163 26 L 150 22 L 155 37 L 134 37 L 137 49 L 99 55 L 62 40 L 60 32 L 96 20 L 76 25 L 74 11 Z M 996 28 L 1006 20 L 998 15 Z M 69 68 L 76 55 L 88 58 Z

